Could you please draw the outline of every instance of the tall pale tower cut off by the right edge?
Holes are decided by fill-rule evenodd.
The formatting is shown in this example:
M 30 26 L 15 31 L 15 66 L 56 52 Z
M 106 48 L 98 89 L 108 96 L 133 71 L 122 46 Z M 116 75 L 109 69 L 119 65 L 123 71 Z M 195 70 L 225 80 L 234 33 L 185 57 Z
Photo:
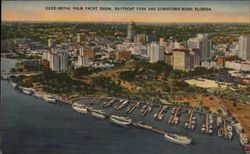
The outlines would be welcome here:
M 243 60 L 250 60 L 250 36 L 241 35 L 239 37 L 239 54 Z

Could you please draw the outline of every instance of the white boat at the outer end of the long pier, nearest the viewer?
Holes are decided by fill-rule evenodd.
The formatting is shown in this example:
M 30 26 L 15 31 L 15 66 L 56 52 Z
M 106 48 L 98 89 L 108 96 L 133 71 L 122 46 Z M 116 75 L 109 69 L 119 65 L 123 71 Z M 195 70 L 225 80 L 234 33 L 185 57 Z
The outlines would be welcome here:
M 181 135 L 177 135 L 177 134 L 165 134 L 164 137 L 174 143 L 178 143 L 178 144 L 190 144 L 192 142 L 191 138 L 188 138 L 186 136 L 181 136 Z

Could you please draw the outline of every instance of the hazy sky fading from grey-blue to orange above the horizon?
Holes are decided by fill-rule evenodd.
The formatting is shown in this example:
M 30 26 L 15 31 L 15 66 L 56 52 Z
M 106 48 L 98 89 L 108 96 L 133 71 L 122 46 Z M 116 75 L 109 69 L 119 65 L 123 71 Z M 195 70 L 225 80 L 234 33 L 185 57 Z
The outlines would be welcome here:
M 250 23 L 250 1 L 2 1 L 1 7 L 5 21 Z M 46 10 L 46 7 L 71 10 Z M 72 10 L 73 7 L 111 7 L 112 10 Z M 118 11 L 115 7 L 205 7 L 211 11 Z

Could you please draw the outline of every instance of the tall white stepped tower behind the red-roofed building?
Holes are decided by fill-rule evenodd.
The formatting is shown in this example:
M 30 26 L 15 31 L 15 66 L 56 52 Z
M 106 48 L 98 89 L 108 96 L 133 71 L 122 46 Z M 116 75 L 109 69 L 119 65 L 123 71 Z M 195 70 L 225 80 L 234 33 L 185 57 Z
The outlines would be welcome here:
M 197 34 L 196 38 L 190 38 L 188 48 L 198 48 L 200 50 L 201 61 L 210 59 L 212 41 L 208 39 L 208 34 Z

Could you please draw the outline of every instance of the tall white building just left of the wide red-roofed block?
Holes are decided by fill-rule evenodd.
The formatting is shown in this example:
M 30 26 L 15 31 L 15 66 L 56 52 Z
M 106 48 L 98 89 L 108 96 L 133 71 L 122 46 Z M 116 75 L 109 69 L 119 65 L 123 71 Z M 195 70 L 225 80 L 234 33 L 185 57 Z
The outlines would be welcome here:
M 150 62 L 158 62 L 158 61 L 164 61 L 164 47 L 160 46 L 158 43 L 151 43 L 148 46 L 148 56 L 150 58 Z

